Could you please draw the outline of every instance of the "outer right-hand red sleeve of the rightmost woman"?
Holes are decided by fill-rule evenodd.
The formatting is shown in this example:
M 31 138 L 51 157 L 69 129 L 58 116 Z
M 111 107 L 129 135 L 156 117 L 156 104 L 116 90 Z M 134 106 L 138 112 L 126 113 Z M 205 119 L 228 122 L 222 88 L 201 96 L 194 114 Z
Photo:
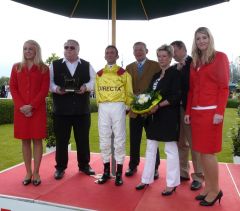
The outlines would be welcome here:
M 216 113 L 223 115 L 229 95 L 229 61 L 224 53 L 216 55 L 216 71 L 218 83 L 218 98 Z

